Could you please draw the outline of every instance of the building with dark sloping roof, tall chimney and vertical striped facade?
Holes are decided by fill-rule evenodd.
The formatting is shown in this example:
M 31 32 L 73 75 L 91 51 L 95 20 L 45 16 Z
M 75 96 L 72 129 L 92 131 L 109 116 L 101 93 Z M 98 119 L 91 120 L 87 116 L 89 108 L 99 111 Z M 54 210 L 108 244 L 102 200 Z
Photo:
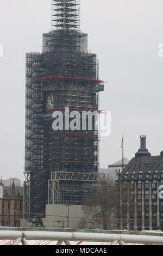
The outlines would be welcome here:
M 163 230 L 163 152 L 151 156 L 146 149 L 146 136 L 141 147 L 119 176 L 119 227 L 126 229 Z

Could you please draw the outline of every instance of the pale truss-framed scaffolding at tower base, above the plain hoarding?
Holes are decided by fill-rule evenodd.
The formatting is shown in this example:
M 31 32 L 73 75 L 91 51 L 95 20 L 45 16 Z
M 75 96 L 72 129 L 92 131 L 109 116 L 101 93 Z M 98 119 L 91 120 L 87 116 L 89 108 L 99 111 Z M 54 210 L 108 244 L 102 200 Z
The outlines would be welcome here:
M 52 172 L 48 180 L 48 204 L 84 205 L 107 182 L 109 174 Z

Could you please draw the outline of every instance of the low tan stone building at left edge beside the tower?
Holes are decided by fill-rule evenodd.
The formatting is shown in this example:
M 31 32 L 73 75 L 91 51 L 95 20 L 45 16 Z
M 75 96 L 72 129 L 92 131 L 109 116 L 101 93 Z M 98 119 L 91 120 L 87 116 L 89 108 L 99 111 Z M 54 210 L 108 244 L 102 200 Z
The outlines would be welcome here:
M 11 186 L 3 186 L 0 182 L 0 226 L 20 227 L 20 218 L 23 216 L 23 187 L 15 186 L 12 180 Z

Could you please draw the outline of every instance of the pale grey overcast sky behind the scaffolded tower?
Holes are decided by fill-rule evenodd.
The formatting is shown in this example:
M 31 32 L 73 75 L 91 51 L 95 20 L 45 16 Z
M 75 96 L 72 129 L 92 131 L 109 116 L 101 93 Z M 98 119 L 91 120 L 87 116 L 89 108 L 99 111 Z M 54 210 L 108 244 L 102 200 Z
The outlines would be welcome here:
M 162 0 L 81 0 L 81 28 L 108 81 L 101 109 L 111 111 L 111 136 L 101 139 L 101 168 L 134 157 L 140 135 L 152 155 L 163 150 Z M 25 53 L 41 52 L 51 30 L 51 0 L 0 0 L 0 176 L 23 179 Z

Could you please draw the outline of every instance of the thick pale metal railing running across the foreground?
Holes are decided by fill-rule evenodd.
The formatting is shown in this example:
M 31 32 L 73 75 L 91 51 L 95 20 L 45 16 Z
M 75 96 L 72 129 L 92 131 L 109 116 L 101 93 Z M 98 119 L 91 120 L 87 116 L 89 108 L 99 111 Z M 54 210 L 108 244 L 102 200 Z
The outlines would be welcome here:
M 14 231 L 1 230 L 0 240 L 14 240 L 12 245 L 29 245 L 27 240 L 58 241 L 56 245 L 71 245 L 72 241 L 110 242 L 110 245 L 140 243 L 141 245 L 163 245 L 163 236 L 158 234 L 103 234 L 86 232 Z

